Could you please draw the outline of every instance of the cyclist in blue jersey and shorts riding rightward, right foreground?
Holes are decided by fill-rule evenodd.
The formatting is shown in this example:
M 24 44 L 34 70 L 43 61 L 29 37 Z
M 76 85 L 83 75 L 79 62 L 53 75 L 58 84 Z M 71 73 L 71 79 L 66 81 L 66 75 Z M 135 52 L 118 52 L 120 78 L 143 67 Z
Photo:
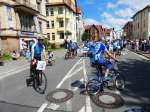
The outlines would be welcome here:
M 107 49 L 106 45 L 99 39 L 95 45 L 95 63 L 101 66 L 106 67 L 105 78 L 107 78 L 109 70 L 112 69 L 112 63 L 104 57 L 106 53 L 110 58 L 115 61 L 118 61 Z

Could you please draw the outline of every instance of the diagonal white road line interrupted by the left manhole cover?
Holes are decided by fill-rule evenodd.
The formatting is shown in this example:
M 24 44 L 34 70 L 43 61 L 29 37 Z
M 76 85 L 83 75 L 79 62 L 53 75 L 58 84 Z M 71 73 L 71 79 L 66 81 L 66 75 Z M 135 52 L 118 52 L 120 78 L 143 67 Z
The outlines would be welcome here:
M 62 86 L 62 84 L 67 80 L 67 78 L 69 77 L 69 75 L 71 74 L 71 72 L 73 71 L 73 69 L 80 64 L 80 62 L 82 61 L 82 58 L 80 58 L 75 64 L 74 66 L 68 71 L 68 73 L 65 75 L 65 77 L 61 80 L 61 82 L 56 86 L 56 88 L 60 88 Z M 45 108 L 48 106 L 48 102 L 45 102 L 41 105 L 41 107 L 38 109 L 37 112 L 43 112 L 45 110 Z M 53 107 L 52 107 L 53 108 Z

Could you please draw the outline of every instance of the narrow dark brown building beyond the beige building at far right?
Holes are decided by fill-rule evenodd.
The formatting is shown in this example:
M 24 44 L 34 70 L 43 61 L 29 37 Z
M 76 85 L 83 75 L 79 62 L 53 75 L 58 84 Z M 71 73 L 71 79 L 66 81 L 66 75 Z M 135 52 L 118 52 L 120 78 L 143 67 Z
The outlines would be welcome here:
M 123 36 L 125 39 L 132 40 L 133 39 L 133 22 L 127 22 L 123 27 Z

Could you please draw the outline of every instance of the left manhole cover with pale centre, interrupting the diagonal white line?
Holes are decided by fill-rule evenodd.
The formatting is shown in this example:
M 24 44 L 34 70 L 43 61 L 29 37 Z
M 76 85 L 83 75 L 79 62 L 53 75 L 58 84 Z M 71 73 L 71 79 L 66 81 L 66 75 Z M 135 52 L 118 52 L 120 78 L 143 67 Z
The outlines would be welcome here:
M 73 97 L 73 92 L 67 89 L 56 89 L 47 95 L 47 100 L 51 103 L 63 103 Z

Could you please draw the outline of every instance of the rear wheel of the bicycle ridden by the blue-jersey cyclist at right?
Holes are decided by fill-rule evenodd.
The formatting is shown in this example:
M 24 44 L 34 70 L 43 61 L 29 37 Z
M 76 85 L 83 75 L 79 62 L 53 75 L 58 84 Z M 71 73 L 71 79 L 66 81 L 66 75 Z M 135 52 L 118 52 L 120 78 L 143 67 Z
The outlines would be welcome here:
M 103 91 L 103 87 L 100 81 L 95 79 L 88 81 L 86 84 L 86 92 L 89 95 L 97 94 L 99 91 Z

